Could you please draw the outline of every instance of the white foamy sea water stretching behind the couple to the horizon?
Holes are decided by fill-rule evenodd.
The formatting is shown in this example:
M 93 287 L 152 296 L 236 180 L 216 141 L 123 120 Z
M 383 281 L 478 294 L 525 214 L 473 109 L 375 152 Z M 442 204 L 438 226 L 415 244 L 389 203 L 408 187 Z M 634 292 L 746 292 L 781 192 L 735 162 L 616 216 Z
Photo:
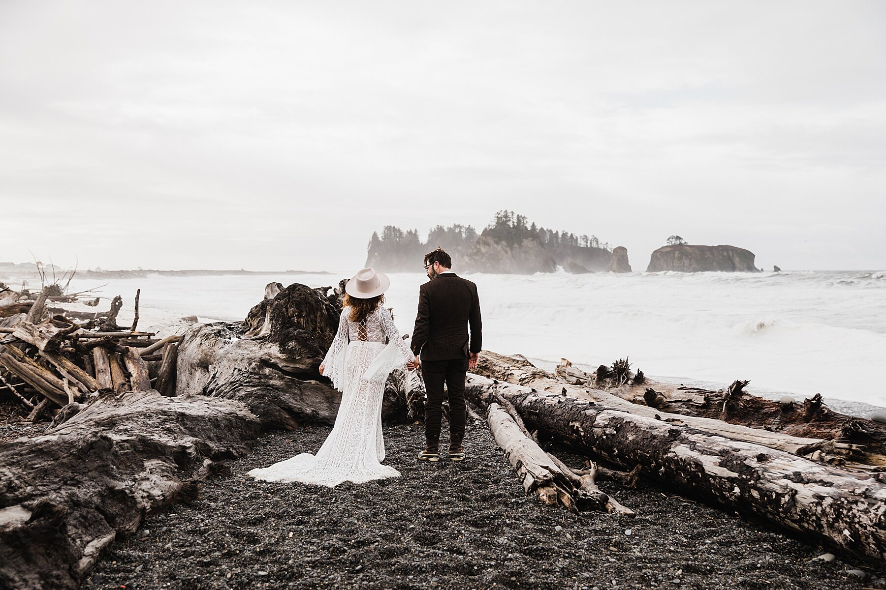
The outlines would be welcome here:
M 354 269 L 355 270 L 355 269 Z M 140 326 L 187 315 L 240 320 L 268 282 L 338 284 L 332 275 L 253 275 L 111 280 Z M 457 270 L 457 269 L 456 269 Z M 825 397 L 886 406 L 886 272 L 565 273 L 466 275 L 478 285 L 484 348 L 520 353 L 553 368 L 561 357 L 594 368 L 629 356 L 647 375 L 752 393 Z M 411 333 L 424 274 L 392 274 L 386 303 Z M 9 284 L 14 285 L 14 282 Z M 72 289 L 96 287 L 74 280 Z M 107 302 L 99 305 L 107 309 Z M 95 308 L 84 308 L 94 310 Z

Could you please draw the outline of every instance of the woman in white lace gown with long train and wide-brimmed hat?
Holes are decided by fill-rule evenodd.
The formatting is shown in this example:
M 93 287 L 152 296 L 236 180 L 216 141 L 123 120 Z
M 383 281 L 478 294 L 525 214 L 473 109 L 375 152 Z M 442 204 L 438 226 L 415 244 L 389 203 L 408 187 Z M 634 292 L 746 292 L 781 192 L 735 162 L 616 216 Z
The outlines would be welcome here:
M 265 481 L 301 481 L 334 487 L 395 478 L 385 460 L 382 397 L 388 374 L 415 356 L 382 306 L 391 280 L 364 268 L 347 282 L 338 333 L 320 365 L 320 374 L 342 393 L 332 432 L 316 456 L 302 453 L 248 475 Z M 385 339 L 388 344 L 385 345 Z

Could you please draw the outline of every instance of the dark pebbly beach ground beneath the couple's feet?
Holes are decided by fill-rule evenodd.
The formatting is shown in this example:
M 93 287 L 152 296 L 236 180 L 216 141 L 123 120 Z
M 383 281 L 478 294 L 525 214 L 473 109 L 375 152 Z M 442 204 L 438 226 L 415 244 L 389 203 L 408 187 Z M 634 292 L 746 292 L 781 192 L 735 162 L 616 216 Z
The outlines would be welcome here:
M 10 410 L 0 440 L 43 432 Z M 221 464 L 193 503 L 115 542 L 82 588 L 882 587 L 884 572 L 865 563 L 813 560 L 825 550 L 643 484 L 601 482 L 633 519 L 543 506 L 483 424 L 469 425 L 462 464 L 419 464 L 421 426 L 386 425 L 386 462 L 399 479 L 329 489 L 246 477 L 315 451 L 329 432 L 263 435 Z

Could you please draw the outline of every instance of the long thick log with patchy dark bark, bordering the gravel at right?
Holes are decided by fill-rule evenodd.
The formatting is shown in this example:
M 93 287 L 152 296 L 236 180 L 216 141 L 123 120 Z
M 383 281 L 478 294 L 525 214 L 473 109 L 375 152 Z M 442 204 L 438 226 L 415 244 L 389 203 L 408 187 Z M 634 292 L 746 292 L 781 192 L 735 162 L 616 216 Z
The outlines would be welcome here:
M 773 448 L 646 418 L 607 401 L 574 399 L 469 375 L 470 397 L 498 393 L 527 425 L 587 456 L 632 469 L 681 494 L 886 561 L 886 484 Z M 620 398 L 619 398 L 620 399 Z

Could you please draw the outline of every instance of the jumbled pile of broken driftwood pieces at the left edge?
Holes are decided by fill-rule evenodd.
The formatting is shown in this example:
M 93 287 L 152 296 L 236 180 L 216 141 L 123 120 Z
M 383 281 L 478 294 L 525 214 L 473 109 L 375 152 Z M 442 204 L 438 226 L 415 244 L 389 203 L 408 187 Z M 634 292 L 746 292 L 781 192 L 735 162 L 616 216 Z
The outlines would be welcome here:
M 88 313 L 53 303 L 78 302 L 78 295 L 52 295 L 52 287 L 32 300 L 8 295 L 0 306 L 0 395 L 6 393 L 30 410 L 28 419 L 51 417 L 69 403 L 84 402 L 101 389 L 116 394 L 157 389 L 175 395 L 178 336 L 153 338 L 132 326 L 118 326 L 120 295 L 111 309 Z M 24 295 L 24 296 L 23 296 Z M 89 299 L 91 304 L 97 300 Z

